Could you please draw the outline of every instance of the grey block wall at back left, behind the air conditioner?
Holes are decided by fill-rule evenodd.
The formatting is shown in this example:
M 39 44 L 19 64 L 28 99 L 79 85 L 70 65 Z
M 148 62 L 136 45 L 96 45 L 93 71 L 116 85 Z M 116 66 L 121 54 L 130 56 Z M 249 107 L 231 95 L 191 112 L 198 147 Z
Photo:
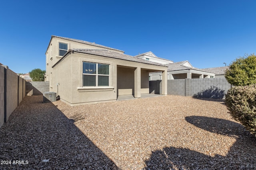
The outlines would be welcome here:
M 50 92 L 50 82 L 26 82 L 26 95 L 37 96 L 42 95 L 44 92 Z

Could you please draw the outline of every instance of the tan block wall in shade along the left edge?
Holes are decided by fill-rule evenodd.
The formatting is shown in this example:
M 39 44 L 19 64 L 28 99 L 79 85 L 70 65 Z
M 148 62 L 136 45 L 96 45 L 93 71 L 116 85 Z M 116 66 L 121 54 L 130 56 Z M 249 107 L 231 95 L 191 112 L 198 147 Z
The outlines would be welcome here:
M 12 111 L 20 104 L 25 94 L 25 80 L 0 65 L 0 127 L 8 121 Z

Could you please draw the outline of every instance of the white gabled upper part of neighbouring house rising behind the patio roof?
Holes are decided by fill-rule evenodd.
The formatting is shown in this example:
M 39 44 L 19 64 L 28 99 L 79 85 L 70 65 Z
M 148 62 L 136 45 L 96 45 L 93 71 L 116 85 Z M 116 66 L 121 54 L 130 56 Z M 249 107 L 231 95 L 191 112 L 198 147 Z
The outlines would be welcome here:
M 136 55 L 134 57 L 137 57 L 139 59 L 143 59 L 143 60 L 146 60 L 146 61 L 152 61 L 152 62 L 155 62 L 155 63 L 160 63 L 160 64 L 173 63 L 173 61 L 171 61 L 171 60 L 156 57 L 156 55 L 154 55 L 151 51 Z

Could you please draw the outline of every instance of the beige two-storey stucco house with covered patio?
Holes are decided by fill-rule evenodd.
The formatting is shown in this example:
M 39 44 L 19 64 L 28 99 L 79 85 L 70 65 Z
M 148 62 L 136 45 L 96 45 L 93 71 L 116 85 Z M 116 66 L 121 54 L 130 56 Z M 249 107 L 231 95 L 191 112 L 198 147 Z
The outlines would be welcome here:
M 149 72 L 162 74 L 162 95 L 166 95 L 167 69 L 118 49 L 52 35 L 46 50 L 45 80 L 50 82 L 51 92 L 74 106 L 149 94 Z

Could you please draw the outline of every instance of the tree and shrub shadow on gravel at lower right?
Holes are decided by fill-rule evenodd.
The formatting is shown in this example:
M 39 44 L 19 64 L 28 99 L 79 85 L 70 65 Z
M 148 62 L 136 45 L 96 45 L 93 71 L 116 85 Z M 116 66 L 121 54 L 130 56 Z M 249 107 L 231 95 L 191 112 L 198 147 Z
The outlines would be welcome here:
M 186 148 L 166 147 L 152 152 L 145 169 L 256 169 L 256 139 L 239 123 L 203 116 L 189 116 L 186 121 L 212 133 L 235 137 L 236 143 L 226 156 L 214 157 Z

